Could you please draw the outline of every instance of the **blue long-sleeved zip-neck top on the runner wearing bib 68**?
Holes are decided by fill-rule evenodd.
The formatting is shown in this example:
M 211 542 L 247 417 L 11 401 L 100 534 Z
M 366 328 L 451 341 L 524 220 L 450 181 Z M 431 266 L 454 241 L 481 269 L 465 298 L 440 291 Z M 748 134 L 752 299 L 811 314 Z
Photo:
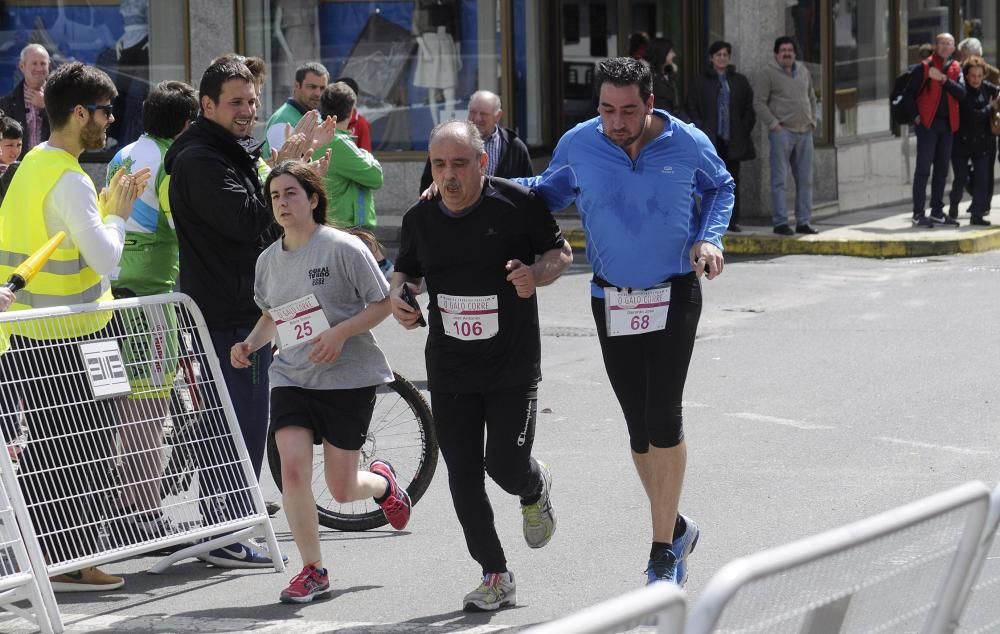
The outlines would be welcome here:
M 594 275 L 619 288 L 652 288 L 691 272 L 691 247 L 704 240 L 721 249 L 733 212 L 733 177 L 708 137 L 663 110 L 653 113 L 664 120 L 663 133 L 635 162 L 595 117 L 563 135 L 540 176 L 512 179 L 553 211 L 576 202 Z M 596 284 L 591 293 L 604 297 Z

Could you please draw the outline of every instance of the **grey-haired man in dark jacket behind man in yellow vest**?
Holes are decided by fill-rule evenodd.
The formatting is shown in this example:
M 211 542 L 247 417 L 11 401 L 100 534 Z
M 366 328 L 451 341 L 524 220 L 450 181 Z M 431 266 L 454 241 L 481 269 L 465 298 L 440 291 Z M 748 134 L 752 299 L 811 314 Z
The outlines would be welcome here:
M 49 138 L 49 120 L 45 115 L 45 81 L 49 78 L 49 53 L 41 44 L 21 49 L 18 70 L 24 75 L 14 90 L 0 99 L 0 110 L 21 124 L 24 143 L 20 159 Z

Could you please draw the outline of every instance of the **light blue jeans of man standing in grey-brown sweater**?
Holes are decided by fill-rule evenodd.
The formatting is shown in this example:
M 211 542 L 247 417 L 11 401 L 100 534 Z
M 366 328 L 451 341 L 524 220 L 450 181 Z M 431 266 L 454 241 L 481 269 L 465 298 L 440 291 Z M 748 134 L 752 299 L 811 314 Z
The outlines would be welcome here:
M 795 178 L 795 223 L 807 225 L 812 218 L 812 130 L 778 128 L 768 132 L 767 138 L 771 142 L 772 223 L 775 227 L 788 224 L 785 183 L 791 167 Z

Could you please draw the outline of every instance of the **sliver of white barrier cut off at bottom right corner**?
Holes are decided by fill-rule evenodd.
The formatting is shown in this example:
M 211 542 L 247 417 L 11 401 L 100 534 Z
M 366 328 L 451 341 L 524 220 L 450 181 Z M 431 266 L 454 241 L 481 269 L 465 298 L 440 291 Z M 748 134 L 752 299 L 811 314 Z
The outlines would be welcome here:
M 990 496 L 990 515 L 986 521 L 970 572 L 955 610 L 960 634 L 1000 632 L 1000 486 Z

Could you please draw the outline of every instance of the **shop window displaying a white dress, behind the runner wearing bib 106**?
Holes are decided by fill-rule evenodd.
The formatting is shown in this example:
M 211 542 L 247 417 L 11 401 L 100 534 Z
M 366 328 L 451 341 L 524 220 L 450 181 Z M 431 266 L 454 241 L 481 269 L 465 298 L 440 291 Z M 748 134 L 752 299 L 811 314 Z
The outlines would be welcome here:
M 295 68 L 319 61 L 358 83 L 375 151 L 424 150 L 436 124 L 464 118 L 476 90 L 500 92 L 497 2 L 246 0 L 247 55 L 270 79 L 262 120 L 292 94 Z

